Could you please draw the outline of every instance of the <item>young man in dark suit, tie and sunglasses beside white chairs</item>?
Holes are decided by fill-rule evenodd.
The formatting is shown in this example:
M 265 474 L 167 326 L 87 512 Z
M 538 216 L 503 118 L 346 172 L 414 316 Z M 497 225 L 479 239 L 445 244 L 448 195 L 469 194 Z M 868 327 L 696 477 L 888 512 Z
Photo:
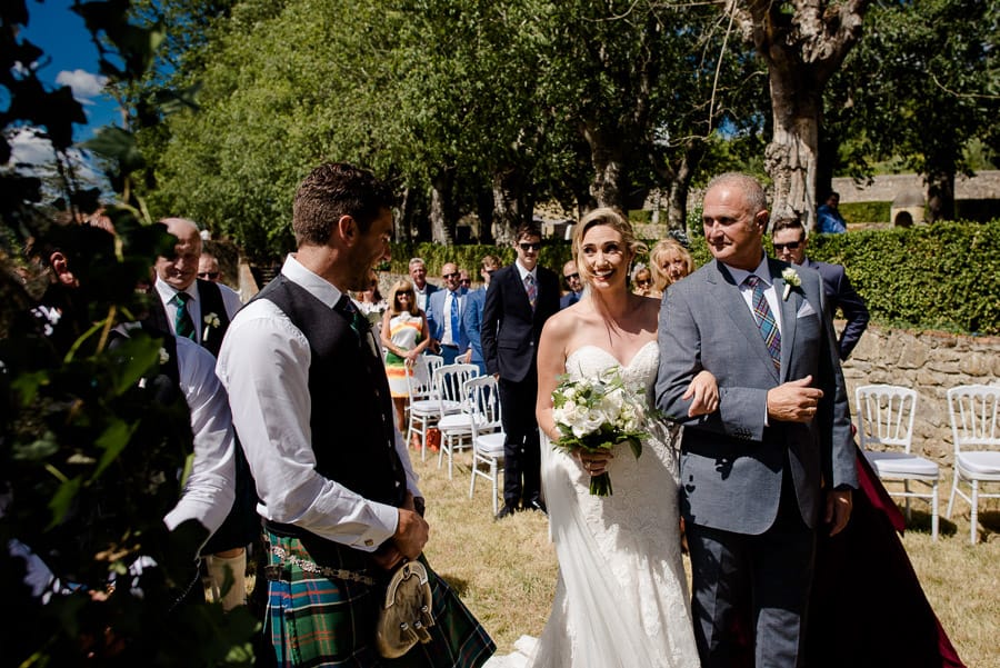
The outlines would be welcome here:
M 546 510 L 534 417 L 538 340 L 546 320 L 559 310 L 559 277 L 538 266 L 541 231 L 533 225 L 521 226 L 514 249 L 514 263 L 498 270 L 490 281 L 480 332 L 487 372 L 499 379 L 506 435 L 503 507 L 497 519 L 522 509 Z

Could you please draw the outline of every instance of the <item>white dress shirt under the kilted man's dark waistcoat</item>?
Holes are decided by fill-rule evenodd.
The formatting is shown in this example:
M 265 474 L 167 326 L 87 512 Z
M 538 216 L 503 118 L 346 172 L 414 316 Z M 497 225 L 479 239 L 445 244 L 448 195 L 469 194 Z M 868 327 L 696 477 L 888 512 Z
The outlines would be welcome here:
M 293 255 L 286 259 L 281 273 L 331 310 L 342 295 Z M 246 306 L 222 341 L 216 372 L 229 391 L 233 425 L 257 481 L 258 511 L 269 520 L 374 551 L 396 534 L 399 511 L 317 472 L 310 427 L 310 358 L 306 336 L 267 299 Z M 396 450 L 406 470 L 407 488 L 421 496 L 399 432 Z

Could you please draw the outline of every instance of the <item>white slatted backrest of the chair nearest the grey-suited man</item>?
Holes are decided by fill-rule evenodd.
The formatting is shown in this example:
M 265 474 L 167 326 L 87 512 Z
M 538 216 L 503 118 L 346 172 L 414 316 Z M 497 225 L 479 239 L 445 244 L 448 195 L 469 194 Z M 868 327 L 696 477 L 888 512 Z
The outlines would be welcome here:
M 864 385 L 854 390 L 861 449 L 869 446 L 910 451 L 917 390 L 898 385 Z

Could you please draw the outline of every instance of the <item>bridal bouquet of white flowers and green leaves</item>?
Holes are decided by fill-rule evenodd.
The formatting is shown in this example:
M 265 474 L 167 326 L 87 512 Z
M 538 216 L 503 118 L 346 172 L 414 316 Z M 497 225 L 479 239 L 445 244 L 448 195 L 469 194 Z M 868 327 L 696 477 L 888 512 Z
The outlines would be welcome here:
M 638 458 L 647 407 L 644 392 L 630 388 L 621 378 L 621 368 L 611 367 L 596 378 L 570 380 L 560 377 L 552 392 L 552 417 L 560 437 L 553 447 L 571 452 L 577 448 L 589 452 L 610 450 L 628 441 Z M 590 493 L 611 496 L 611 477 L 603 472 L 590 479 Z

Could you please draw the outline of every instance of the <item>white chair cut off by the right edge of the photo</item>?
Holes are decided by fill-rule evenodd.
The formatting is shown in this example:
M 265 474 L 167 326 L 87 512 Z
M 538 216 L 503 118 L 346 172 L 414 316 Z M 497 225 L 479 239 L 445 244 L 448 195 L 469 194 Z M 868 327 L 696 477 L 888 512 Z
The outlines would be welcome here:
M 1000 387 L 963 385 L 948 390 L 948 415 L 954 442 L 954 473 L 947 517 L 951 517 L 954 495 L 972 507 L 970 540 L 976 545 L 979 499 L 997 499 L 1000 492 L 979 490 L 980 482 L 1000 481 Z M 971 488 L 967 496 L 960 482 Z

